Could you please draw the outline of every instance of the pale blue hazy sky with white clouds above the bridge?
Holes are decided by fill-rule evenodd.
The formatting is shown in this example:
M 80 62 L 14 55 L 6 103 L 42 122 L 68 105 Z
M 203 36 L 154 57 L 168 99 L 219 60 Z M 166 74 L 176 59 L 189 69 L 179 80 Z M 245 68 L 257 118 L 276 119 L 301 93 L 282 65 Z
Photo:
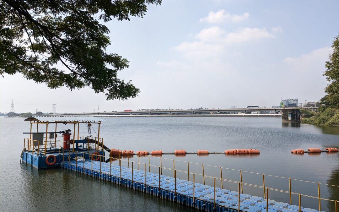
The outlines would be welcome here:
M 339 1 L 163 0 L 143 18 L 105 25 L 107 53 L 128 59 L 120 79 L 136 98 L 106 101 L 91 88 L 48 89 L 21 75 L 0 77 L 0 112 L 271 107 L 317 101 L 339 33 Z M 62 68 L 62 67 L 61 67 Z

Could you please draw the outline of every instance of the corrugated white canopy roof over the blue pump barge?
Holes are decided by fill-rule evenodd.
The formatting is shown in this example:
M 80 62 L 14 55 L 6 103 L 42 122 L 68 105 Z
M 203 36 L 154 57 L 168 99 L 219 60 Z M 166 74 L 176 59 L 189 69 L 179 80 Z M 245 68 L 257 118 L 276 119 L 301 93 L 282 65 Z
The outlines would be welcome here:
M 39 122 L 101 122 L 104 121 L 101 118 L 94 116 L 31 116 L 25 119 L 25 121 L 39 121 Z

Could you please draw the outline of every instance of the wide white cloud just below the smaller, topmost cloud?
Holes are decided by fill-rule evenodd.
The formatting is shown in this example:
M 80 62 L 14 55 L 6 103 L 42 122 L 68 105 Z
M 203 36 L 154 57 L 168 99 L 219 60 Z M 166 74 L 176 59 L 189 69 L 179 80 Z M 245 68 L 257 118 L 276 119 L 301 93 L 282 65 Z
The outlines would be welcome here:
M 267 32 L 266 28 L 243 28 L 238 32 L 226 33 L 218 26 L 212 26 L 200 31 L 197 35 L 201 41 L 204 42 L 219 42 L 222 44 L 242 43 L 251 40 L 258 40 L 261 38 L 274 37 Z

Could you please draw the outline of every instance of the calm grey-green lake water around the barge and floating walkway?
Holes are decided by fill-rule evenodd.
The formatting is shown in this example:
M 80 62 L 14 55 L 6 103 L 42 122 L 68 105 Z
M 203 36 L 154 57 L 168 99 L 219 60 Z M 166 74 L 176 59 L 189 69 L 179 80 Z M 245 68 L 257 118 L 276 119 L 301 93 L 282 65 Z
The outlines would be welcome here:
M 292 149 L 339 147 L 338 127 L 319 127 L 306 124 L 284 124 L 280 117 L 117 117 L 103 118 L 100 137 L 109 148 L 126 150 L 158 150 L 186 152 L 208 150 L 223 152 L 225 149 L 259 149 L 260 155 L 208 156 L 186 155 L 163 158 L 176 159 L 175 168 L 220 177 L 218 167 L 291 177 L 323 184 L 339 185 L 339 153 L 292 155 Z M 42 126 L 41 126 L 42 127 Z M 59 130 L 73 126 L 61 125 Z M 53 127 L 52 127 L 53 129 Z M 42 130 L 42 128 L 41 128 Z M 82 136 L 87 136 L 83 126 Z M 52 130 L 54 131 L 54 129 Z M 93 177 L 60 168 L 36 170 L 20 164 L 23 147 L 22 132 L 29 132 L 29 122 L 23 118 L 0 118 L 2 136 L 0 154 L 0 211 L 195 211 L 153 195 L 108 183 Z M 92 135 L 95 133 L 92 131 Z M 126 159 L 126 158 L 125 158 Z M 164 167 L 172 167 L 173 160 L 162 159 Z M 138 161 L 136 156 L 130 161 Z M 116 162 L 116 161 L 115 161 Z M 140 162 L 148 162 L 141 157 Z M 194 162 L 194 163 L 193 163 Z M 158 157 L 151 157 L 151 164 L 160 165 Z M 127 166 L 127 162 L 122 162 Z M 216 167 L 209 167 L 213 165 Z M 147 167 L 148 169 L 148 167 Z M 157 168 L 152 172 L 157 173 Z M 243 182 L 262 185 L 262 175 L 242 173 Z M 163 174 L 173 171 L 163 169 Z M 239 181 L 239 171 L 223 170 L 223 178 Z M 177 173 L 187 179 L 187 174 Z M 192 177 L 192 176 L 191 176 Z M 190 179 L 192 180 L 192 178 Z M 202 182 L 202 177 L 197 177 Z M 212 178 L 206 184 L 213 186 Z M 265 176 L 265 186 L 288 191 L 288 179 Z M 217 181 L 220 187 L 220 181 Z M 237 184 L 224 182 L 223 187 L 237 191 Z M 317 184 L 292 180 L 292 191 L 317 196 Z M 262 188 L 243 186 L 243 192 L 263 196 Z M 320 185 L 323 198 L 339 200 L 339 187 Z M 289 202 L 287 193 L 270 191 L 270 199 Z M 298 205 L 298 197 L 292 196 L 292 204 Z M 302 197 L 305 208 L 318 209 L 318 200 Z M 322 211 L 334 211 L 334 203 L 321 201 Z

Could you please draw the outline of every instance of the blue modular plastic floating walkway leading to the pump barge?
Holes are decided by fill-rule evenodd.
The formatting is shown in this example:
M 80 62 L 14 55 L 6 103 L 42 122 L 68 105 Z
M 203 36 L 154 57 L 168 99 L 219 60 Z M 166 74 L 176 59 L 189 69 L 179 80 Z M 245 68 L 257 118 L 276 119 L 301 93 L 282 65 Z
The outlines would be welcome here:
M 218 212 L 295 212 L 299 211 L 299 206 L 289 205 L 283 202 L 266 199 L 250 194 L 230 191 L 228 189 L 215 188 L 209 185 L 195 183 L 193 190 L 193 182 L 184 179 L 173 178 L 171 176 L 160 175 L 152 172 L 144 172 L 142 170 L 127 168 L 123 166 L 113 165 L 109 163 L 86 160 L 83 161 L 64 161 L 62 167 L 74 170 L 86 175 L 101 178 L 117 184 L 144 191 L 161 198 L 171 201 L 177 201 L 181 204 L 195 207 L 203 211 Z M 111 168 L 111 170 L 110 170 Z M 133 175 L 133 180 L 132 180 Z M 160 183 L 159 183 L 160 182 Z M 238 202 L 240 205 L 238 206 Z M 266 209 L 266 205 L 268 209 Z M 302 208 L 302 212 L 318 212 L 318 210 L 310 208 Z

